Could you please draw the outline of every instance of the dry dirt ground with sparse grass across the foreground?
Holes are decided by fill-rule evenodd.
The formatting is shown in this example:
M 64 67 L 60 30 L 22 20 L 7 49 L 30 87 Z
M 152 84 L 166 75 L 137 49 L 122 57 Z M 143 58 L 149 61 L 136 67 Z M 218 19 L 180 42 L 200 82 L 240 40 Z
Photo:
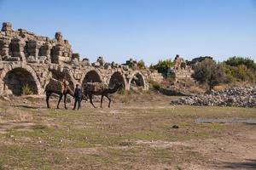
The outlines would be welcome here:
M 47 109 L 44 96 L 2 99 L 0 169 L 256 169 L 256 123 L 195 122 L 256 119 L 255 108 L 172 99 L 114 95 L 111 108 L 79 111 Z

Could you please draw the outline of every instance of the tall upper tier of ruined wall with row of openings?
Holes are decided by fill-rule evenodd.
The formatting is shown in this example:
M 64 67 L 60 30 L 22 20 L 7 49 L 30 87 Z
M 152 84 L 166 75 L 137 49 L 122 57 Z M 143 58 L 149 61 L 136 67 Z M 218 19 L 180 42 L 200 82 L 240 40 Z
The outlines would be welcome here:
M 72 59 L 72 48 L 61 32 L 55 39 L 36 36 L 24 29 L 14 31 L 10 23 L 3 23 L 0 31 L 1 60 L 28 63 L 62 63 Z

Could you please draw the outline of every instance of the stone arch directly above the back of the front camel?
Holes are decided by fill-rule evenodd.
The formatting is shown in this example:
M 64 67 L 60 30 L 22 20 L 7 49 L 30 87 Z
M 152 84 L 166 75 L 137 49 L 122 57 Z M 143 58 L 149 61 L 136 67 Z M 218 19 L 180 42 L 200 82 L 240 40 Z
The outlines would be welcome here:
M 81 78 L 82 84 L 86 82 L 103 82 L 102 74 L 96 70 L 87 71 Z

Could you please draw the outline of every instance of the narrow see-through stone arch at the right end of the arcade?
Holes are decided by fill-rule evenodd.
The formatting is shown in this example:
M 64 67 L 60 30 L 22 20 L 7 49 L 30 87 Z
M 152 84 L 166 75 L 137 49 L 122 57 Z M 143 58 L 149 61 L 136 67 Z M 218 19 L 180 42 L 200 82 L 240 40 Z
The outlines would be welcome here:
M 142 88 L 143 90 L 147 89 L 145 78 L 140 71 L 134 71 L 131 74 L 131 78 L 129 79 L 129 88 Z

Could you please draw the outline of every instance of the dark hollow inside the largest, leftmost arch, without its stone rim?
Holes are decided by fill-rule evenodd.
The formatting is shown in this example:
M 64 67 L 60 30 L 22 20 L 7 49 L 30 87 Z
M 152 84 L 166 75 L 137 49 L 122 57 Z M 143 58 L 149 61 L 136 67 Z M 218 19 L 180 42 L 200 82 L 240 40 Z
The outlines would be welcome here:
M 5 94 L 21 95 L 23 91 L 38 94 L 37 82 L 29 71 L 24 68 L 15 68 L 8 71 L 3 78 L 3 91 Z M 22 89 L 24 88 L 24 90 Z

